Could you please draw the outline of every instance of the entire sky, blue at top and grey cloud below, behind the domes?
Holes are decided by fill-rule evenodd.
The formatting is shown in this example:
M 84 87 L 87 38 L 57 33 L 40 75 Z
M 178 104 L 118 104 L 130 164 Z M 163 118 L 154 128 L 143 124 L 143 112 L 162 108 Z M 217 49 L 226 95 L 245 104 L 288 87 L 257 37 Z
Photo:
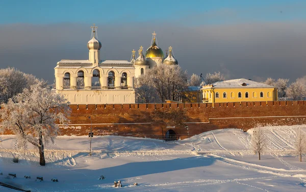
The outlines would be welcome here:
M 220 71 L 257 81 L 306 75 L 306 1 L 1 1 L 0 67 L 54 80 L 62 59 L 88 59 L 98 26 L 102 60 L 172 46 L 191 75 Z

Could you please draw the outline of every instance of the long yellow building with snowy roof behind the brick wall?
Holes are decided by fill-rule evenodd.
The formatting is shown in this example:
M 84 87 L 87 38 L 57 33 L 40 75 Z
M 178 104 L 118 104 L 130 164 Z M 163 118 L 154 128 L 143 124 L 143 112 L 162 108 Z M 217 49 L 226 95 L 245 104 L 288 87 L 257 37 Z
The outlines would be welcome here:
M 244 78 L 205 85 L 201 92 L 202 101 L 208 103 L 277 100 L 275 87 Z

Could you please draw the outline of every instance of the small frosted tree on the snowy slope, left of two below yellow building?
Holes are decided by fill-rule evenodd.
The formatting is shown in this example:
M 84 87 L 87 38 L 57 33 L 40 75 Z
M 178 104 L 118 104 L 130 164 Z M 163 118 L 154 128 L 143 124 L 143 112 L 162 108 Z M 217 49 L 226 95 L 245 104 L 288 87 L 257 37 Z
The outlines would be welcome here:
M 260 160 L 261 154 L 263 154 L 266 148 L 266 138 L 260 126 L 257 126 L 253 130 L 250 147 L 255 154 L 258 154 Z

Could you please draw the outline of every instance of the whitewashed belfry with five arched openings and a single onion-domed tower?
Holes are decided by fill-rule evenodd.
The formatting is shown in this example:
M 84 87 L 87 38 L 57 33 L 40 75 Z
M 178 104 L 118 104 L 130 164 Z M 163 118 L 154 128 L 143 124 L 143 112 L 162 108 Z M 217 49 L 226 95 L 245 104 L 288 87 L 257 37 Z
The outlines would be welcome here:
M 88 42 L 89 60 L 61 60 L 55 67 L 56 91 L 70 104 L 135 103 L 135 67 L 131 62 L 100 61 L 101 43 Z

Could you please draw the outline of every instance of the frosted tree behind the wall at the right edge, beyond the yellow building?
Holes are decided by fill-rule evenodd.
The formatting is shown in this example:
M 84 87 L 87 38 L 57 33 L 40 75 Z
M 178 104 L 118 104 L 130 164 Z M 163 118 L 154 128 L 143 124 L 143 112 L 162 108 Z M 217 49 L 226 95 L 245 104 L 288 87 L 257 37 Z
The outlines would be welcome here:
M 286 89 L 287 97 L 292 100 L 300 100 L 306 97 L 306 86 L 300 81 L 295 81 Z

